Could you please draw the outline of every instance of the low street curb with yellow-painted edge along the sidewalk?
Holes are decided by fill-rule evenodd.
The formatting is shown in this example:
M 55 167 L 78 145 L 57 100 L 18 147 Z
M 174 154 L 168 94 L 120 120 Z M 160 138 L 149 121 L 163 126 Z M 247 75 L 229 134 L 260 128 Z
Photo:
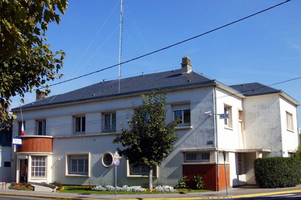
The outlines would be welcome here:
M 252 193 L 252 194 L 241 194 L 233 196 L 195 196 L 195 197 L 172 197 L 172 198 L 139 198 L 139 200 L 190 200 L 190 199 L 225 199 L 225 198 L 242 198 L 242 197 L 252 197 L 252 196 L 264 196 L 264 195 L 274 195 L 274 194 L 285 194 L 292 192 L 301 192 L 301 189 L 295 190 L 285 190 L 285 191 L 274 191 L 274 192 L 263 192 L 263 193 Z M 35 198 L 51 198 L 51 199 L 62 199 L 62 200 L 97 200 L 95 198 L 76 198 L 76 197 L 59 197 L 59 196 L 43 196 L 43 195 L 31 195 L 31 194 L 18 194 L 18 193 L 0 193 L 0 195 L 5 196 L 24 196 L 24 197 L 35 197 Z M 105 200 L 105 198 L 101 198 Z M 114 198 L 108 198 L 107 200 L 112 200 Z M 119 200 L 137 200 L 137 198 L 117 198 Z

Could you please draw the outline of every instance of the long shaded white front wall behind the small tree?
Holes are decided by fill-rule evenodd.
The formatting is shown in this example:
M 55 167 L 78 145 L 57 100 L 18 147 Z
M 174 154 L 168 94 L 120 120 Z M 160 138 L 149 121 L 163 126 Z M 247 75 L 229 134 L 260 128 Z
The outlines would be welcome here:
M 132 106 L 132 102 L 135 103 Z M 35 110 L 23 110 L 23 118 L 26 121 L 25 134 L 35 134 L 36 119 L 46 119 L 46 134 L 53 138 L 52 156 L 52 181 L 65 184 L 113 184 L 114 167 L 105 167 L 102 164 L 102 156 L 106 152 L 114 154 L 116 147 L 120 144 L 112 144 L 116 132 L 120 131 L 120 122 L 125 127 L 127 108 L 135 108 L 141 103 L 139 95 L 98 100 L 92 102 L 81 102 L 77 104 L 66 104 Z M 191 126 L 176 130 L 179 140 L 175 142 L 174 151 L 159 167 L 159 177 L 154 178 L 154 185 L 169 184 L 178 185 L 182 176 L 182 165 L 184 161 L 184 148 L 214 147 L 215 144 L 207 144 L 208 140 L 215 141 L 214 117 L 204 112 L 213 112 L 213 86 L 202 88 L 182 89 L 170 91 L 167 97 L 167 120 L 173 117 L 172 108 L 174 104 L 188 103 L 191 109 Z M 102 131 L 103 113 L 116 112 L 116 132 L 105 133 Z M 74 116 L 86 116 L 85 134 L 74 134 Z M 20 117 L 18 113 L 18 117 Z M 18 134 L 15 127 L 14 134 Z M 89 135 L 90 134 L 90 135 Z M 66 175 L 66 156 L 73 153 L 90 153 L 90 177 Z M 15 169 L 13 169 L 15 170 Z M 117 184 L 146 185 L 147 177 L 127 177 L 126 160 L 122 159 L 117 168 Z

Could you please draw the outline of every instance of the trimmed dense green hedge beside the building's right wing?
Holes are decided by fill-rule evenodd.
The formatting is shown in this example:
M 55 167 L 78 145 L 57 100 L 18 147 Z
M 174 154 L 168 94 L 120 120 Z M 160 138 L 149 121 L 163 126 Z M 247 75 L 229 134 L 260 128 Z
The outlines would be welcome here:
M 301 181 L 301 159 L 293 157 L 265 157 L 254 161 L 258 187 L 292 187 Z

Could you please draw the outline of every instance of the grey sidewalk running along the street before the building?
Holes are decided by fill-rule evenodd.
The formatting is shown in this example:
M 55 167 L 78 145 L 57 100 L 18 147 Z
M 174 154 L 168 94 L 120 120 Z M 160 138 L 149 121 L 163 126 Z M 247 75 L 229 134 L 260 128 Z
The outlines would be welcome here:
M 275 188 L 275 189 L 261 189 L 261 188 L 231 188 L 229 189 L 229 196 L 226 191 L 212 191 L 200 193 L 160 193 L 160 194 L 85 194 L 85 193 L 64 193 L 64 192 L 47 192 L 47 191 L 22 191 L 0 189 L 0 195 L 16 195 L 16 196 L 30 196 L 30 197 L 51 197 L 53 199 L 210 199 L 210 198 L 237 198 L 250 197 L 259 195 L 272 195 L 281 193 L 301 192 L 301 185 L 295 187 Z

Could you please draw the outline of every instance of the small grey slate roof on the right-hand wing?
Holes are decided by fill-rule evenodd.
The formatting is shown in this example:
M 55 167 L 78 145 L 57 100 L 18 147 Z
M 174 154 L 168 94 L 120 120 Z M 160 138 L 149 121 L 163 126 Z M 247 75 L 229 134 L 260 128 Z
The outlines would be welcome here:
M 245 96 L 278 93 L 280 89 L 274 89 L 258 82 L 230 85 L 233 89 L 240 91 Z

